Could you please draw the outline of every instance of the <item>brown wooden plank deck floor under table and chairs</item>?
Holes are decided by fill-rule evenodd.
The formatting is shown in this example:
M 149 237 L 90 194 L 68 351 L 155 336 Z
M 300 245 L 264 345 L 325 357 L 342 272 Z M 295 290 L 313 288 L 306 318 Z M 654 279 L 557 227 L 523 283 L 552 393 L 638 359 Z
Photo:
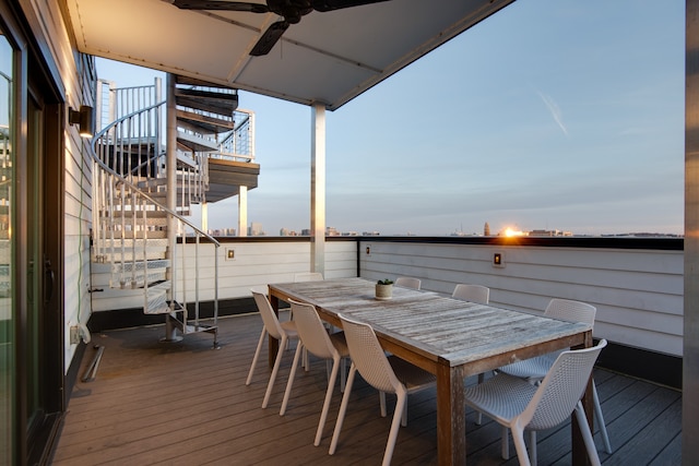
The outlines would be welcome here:
M 341 394 L 333 397 L 322 443 L 313 437 L 325 391 L 324 363 L 297 373 L 287 413 L 279 416 L 293 350 L 285 351 L 270 406 L 261 408 L 270 371 L 266 345 L 249 386 L 245 385 L 262 328 L 258 314 L 220 319 L 221 349 L 209 334 L 159 343 L 163 326 L 93 335 L 105 347 L 97 377 L 78 382 L 54 465 L 323 465 L 380 464 L 390 416 L 379 416 L 378 395 L 355 382 L 335 455 L 328 455 Z M 91 362 L 91 347 L 83 368 Z M 81 371 L 81 377 L 84 373 Z M 680 464 L 682 394 L 644 381 L 595 370 L 614 454 L 605 465 Z M 408 397 L 393 464 L 436 464 L 436 393 Z M 389 397 L 389 409 L 391 398 Z M 514 465 L 499 456 L 499 426 L 467 415 L 470 465 Z M 511 447 L 514 455 L 514 449 Z M 540 432 L 538 464 L 570 464 L 570 429 Z

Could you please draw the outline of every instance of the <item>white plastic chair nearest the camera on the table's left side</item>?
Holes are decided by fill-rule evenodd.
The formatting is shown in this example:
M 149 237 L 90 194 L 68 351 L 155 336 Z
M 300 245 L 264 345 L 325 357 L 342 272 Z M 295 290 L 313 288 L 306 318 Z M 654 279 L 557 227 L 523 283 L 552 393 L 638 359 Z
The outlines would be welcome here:
M 340 431 L 347 411 L 350 395 L 352 393 L 352 384 L 357 371 L 364 380 L 380 393 L 394 393 L 398 396 L 395 403 L 395 411 L 391 422 L 391 431 L 386 443 L 386 452 L 383 453 L 383 465 L 391 463 L 395 440 L 398 438 L 399 425 L 405 425 L 407 421 L 407 395 L 433 385 L 436 381 L 435 375 L 429 372 L 411 365 L 395 356 L 387 357 L 383 348 L 379 344 L 374 328 L 371 326 L 350 320 L 344 315 L 339 315 L 342 327 L 345 332 L 347 346 L 350 347 L 350 357 L 352 366 L 350 367 L 350 375 L 347 377 L 347 386 L 342 396 L 340 405 L 340 414 L 335 422 L 335 430 L 332 434 L 329 453 L 332 455 L 337 447 Z M 386 416 L 386 402 L 381 398 L 381 416 Z

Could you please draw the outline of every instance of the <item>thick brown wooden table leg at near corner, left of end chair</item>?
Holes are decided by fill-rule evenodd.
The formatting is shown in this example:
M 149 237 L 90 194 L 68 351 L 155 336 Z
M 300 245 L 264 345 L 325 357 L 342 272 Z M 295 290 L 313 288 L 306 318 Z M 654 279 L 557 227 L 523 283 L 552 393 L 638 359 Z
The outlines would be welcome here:
M 466 419 L 462 368 L 437 370 L 437 457 L 440 465 L 466 464 Z

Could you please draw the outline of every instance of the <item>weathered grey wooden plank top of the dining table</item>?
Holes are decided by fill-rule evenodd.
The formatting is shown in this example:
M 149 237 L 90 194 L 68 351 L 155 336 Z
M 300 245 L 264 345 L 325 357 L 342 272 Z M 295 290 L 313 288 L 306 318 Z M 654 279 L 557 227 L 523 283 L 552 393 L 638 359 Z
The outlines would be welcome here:
M 270 285 L 281 299 L 309 302 L 322 319 L 337 314 L 369 323 L 387 349 L 403 348 L 413 362 L 461 366 L 479 373 L 538 354 L 582 345 L 592 326 L 522 311 L 454 299 L 433 291 L 393 286 L 393 298 L 377 300 L 375 282 L 341 278 Z M 386 346 L 386 345 L 384 345 Z M 401 355 L 399 355 L 401 356 Z M 422 363 L 420 363 L 422 362 Z

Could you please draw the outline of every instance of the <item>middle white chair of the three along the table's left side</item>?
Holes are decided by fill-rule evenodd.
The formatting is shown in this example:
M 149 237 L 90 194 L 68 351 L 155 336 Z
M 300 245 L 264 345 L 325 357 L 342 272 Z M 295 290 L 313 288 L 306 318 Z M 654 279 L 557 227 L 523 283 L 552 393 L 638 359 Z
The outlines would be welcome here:
M 284 392 L 284 401 L 282 402 L 282 409 L 280 409 L 280 416 L 284 416 L 286 413 L 286 406 L 292 393 L 292 386 L 294 385 L 294 378 L 296 375 L 296 368 L 300 359 L 300 355 L 304 349 L 308 350 L 311 355 L 315 355 L 327 361 L 332 360 L 332 370 L 328 378 L 328 390 L 325 391 L 325 401 L 320 415 L 320 421 L 318 422 L 318 430 L 316 432 L 316 440 L 313 445 L 320 445 L 320 439 L 322 438 L 323 427 L 328 419 L 328 410 L 330 409 L 330 401 L 332 398 L 332 392 L 337 380 L 337 372 L 340 371 L 341 362 L 343 358 L 350 356 L 347 344 L 345 342 L 344 333 L 337 332 L 328 334 L 323 323 L 318 316 L 316 308 L 305 302 L 297 302 L 294 300 L 292 303 L 292 310 L 294 311 L 296 328 L 298 331 L 299 343 L 296 347 L 296 354 L 294 355 L 294 362 L 292 363 L 292 371 L 288 375 L 288 382 L 286 383 L 286 391 Z M 344 390 L 345 385 L 345 371 L 344 365 L 341 373 L 341 390 Z M 306 371 L 308 371 L 308 363 L 306 365 Z

